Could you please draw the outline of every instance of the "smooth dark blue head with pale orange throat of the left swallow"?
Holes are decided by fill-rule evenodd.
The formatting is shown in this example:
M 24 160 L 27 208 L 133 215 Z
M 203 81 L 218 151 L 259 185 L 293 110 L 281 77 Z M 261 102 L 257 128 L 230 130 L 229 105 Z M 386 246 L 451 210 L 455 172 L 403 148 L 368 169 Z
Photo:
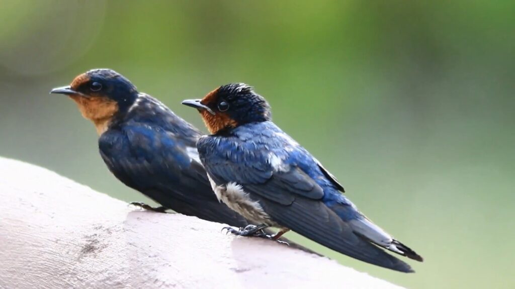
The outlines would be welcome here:
M 138 97 L 136 87 L 111 69 L 92 69 L 50 93 L 73 99 L 82 116 L 95 123 L 99 134 L 107 129 L 114 115 L 126 111 Z

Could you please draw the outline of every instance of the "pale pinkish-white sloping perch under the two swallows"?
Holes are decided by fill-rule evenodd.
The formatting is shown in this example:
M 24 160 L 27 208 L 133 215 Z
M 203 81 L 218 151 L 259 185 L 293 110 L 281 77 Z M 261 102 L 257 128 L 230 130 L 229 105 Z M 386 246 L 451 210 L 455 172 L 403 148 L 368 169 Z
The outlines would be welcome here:
M 0 158 L 0 288 L 400 288 Z

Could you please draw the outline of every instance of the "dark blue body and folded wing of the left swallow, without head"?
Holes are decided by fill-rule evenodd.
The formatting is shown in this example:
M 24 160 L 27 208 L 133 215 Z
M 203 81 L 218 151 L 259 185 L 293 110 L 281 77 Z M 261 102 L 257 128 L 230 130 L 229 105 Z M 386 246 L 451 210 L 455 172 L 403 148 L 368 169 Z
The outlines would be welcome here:
M 200 132 L 157 100 L 141 98 L 126 119 L 111 125 L 98 140 L 109 170 L 166 208 L 246 226 L 241 215 L 218 202 L 203 166 L 192 158 Z

